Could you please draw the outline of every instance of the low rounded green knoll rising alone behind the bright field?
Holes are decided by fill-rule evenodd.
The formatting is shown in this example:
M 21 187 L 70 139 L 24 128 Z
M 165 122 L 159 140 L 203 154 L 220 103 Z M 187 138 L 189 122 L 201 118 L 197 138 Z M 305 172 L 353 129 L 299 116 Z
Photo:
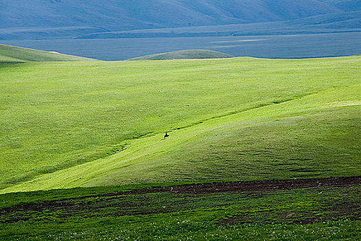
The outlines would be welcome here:
M 130 61 L 147 60 L 169 60 L 169 59 L 223 59 L 232 58 L 230 54 L 224 54 L 213 50 L 181 50 L 176 52 L 167 52 L 162 54 L 152 54 L 138 58 L 129 59 Z

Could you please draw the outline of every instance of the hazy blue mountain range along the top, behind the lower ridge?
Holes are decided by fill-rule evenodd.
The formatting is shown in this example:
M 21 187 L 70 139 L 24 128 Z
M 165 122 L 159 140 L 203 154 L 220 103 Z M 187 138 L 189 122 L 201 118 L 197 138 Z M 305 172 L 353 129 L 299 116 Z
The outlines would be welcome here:
M 324 14 L 336 20 L 350 14 L 342 28 L 355 30 L 360 28 L 360 10 L 360 0 L 0 0 L 0 39 L 104 37 L 106 32 L 279 21 L 287 25 Z

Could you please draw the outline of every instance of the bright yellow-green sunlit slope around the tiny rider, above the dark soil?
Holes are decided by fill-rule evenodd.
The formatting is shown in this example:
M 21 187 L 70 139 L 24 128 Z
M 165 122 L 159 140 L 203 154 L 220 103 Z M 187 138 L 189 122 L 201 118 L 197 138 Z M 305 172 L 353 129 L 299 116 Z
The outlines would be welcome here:
M 360 56 L 23 63 L 1 72 L 4 192 L 360 175 Z

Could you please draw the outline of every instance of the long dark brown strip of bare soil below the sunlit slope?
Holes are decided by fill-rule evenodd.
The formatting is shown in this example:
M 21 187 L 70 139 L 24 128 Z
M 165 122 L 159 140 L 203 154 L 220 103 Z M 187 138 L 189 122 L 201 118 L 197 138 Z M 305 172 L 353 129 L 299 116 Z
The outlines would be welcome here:
M 124 191 L 118 193 L 106 193 L 94 196 L 85 196 L 81 198 L 69 198 L 65 200 L 45 201 L 41 203 L 32 203 L 26 205 L 17 205 L 0 209 L 1 213 L 13 213 L 15 211 L 24 211 L 28 209 L 37 210 L 43 207 L 64 207 L 64 205 L 71 205 L 67 200 L 79 200 L 84 198 L 95 197 L 111 197 L 131 194 L 146 194 L 146 193 L 219 193 L 219 192 L 260 192 L 260 191 L 276 191 L 285 189 L 301 189 L 309 187 L 349 187 L 354 185 L 361 185 L 361 176 L 340 177 L 340 178 L 306 178 L 306 179 L 289 179 L 289 180 L 261 180 L 261 181 L 243 181 L 243 182 L 212 182 L 201 183 L 194 185 L 179 185 L 173 187 L 153 187 L 150 189 L 139 189 L 133 191 Z

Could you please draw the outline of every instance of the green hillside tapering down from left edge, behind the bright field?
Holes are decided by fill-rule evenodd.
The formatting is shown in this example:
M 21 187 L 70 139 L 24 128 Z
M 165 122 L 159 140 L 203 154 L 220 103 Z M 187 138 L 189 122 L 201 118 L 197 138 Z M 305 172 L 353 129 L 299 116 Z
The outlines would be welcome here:
M 90 61 L 91 59 L 0 44 L 0 63 L 27 61 Z

